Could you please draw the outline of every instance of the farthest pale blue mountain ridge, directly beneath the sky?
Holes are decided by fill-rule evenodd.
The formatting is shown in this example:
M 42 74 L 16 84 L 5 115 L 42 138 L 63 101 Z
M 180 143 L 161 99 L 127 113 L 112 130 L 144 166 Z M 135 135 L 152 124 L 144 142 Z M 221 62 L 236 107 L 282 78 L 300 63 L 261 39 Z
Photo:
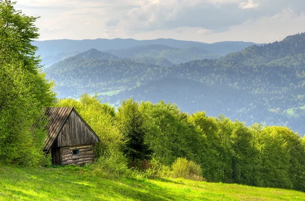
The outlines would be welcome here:
M 173 48 L 187 48 L 187 47 L 198 47 L 216 55 L 226 55 L 231 52 L 240 51 L 254 43 L 248 42 L 219 42 L 213 44 L 192 42 L 192 41 L 179 41 L 175 39 L 153 39 L 153 40 L 143 40 L 138 41 L 136 39 L 84 39 L 84 40 L 70 40 L 70 39 L 59 39 L 51 41 L 34 41 L 33 45 L 39 48 L 38 55 L 57 55 L 63 52 L 72 51 L 87 51 L 89 49 L 95 48 L 100 51 L 106 50 L 119 50 L 128 49 L 137 46 L 149 46 L 149 45 L 164 45 Z

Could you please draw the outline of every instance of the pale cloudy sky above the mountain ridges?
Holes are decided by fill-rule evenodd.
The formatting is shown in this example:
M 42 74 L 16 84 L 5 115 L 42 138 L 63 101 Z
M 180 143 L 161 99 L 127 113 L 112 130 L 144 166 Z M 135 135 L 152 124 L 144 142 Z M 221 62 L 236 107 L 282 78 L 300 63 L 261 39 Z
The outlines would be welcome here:
M 174 38 L 271 43 L 305 31 L 305 0 L 17 0 L 40 40 Z

